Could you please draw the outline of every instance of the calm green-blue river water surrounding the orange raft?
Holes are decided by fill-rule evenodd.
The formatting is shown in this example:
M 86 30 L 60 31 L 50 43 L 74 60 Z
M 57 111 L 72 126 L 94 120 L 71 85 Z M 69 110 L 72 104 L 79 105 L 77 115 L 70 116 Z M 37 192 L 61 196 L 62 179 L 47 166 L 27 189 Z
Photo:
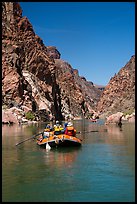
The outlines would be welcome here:
M 2 201 L 134 202 L 135 123 L 74 121 L 80 148 L 46 151 L 28 140 L 45 124 L 2 126 Z M 96 131 L 96 132 L 90 132 Z

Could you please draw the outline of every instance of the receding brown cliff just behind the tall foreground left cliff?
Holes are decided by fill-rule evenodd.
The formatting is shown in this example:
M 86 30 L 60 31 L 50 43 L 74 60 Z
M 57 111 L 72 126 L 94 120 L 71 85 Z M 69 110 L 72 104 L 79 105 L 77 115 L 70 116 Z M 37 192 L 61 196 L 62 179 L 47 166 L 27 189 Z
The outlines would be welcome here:
M 55 59 L 56 80 L 59 84 L 61 111 L 67 115 L 88 116 L 94 113 L 94 108 L 100 98 L 101 91 L 91 82 L 80 77 L 78 70 L 61 59 Z

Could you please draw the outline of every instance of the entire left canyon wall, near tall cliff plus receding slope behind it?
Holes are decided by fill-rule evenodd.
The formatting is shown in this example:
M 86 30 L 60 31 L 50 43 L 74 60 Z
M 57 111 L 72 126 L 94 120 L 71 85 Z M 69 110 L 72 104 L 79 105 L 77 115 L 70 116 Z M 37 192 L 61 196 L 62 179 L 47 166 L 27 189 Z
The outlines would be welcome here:
M 91 89 L 91 90 L 90 90 Z M 91 112 L 101 92 L 46 47 L 19 3 L 2 2 L 2 102 L 63 119 Z M 49 119 L 49 118 L 47 118 Z

